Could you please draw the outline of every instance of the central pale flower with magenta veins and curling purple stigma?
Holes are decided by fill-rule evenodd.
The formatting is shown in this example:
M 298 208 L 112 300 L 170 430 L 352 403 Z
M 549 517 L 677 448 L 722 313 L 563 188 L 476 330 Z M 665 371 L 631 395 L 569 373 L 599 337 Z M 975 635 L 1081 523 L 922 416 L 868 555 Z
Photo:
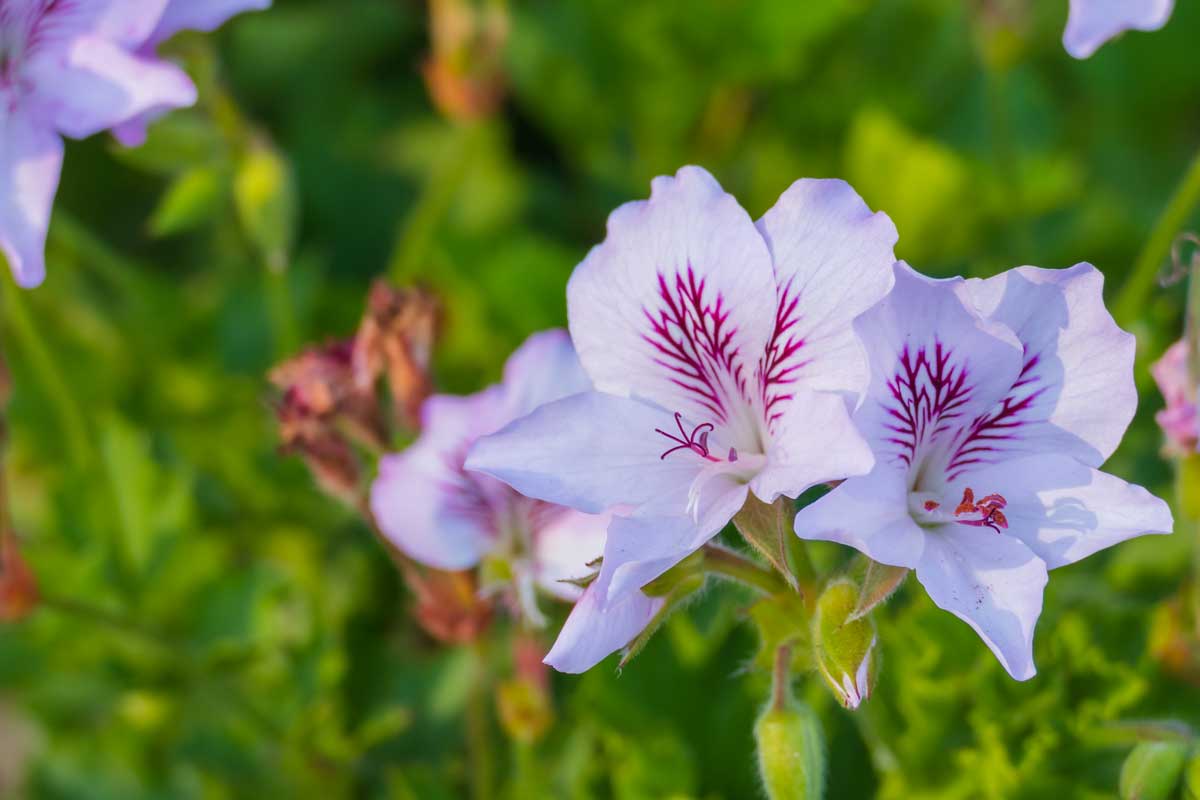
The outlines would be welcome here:
M 851 320 L 892 285 L 895 227 L 842 181 L 793 184 L 756 224 L 703 169 L 656 178 L 566 290 L 595 391 L 475 446 L 468 469 L 588 512 L 619 509 L 547 663 L 624 646 L 640 591 L 752 492 L 766 503 L 871 469 L 850 419 L 868 383 Z

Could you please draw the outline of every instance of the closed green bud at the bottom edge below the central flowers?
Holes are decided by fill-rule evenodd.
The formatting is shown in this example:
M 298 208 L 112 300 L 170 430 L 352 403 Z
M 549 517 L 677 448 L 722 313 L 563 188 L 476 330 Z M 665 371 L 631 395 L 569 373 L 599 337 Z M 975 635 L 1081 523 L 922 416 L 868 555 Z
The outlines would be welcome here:
M 824 744 L 812 710 L 788 697 L 754 728 L 758 771 L 770 800 L 816 800 L 824 790 Z

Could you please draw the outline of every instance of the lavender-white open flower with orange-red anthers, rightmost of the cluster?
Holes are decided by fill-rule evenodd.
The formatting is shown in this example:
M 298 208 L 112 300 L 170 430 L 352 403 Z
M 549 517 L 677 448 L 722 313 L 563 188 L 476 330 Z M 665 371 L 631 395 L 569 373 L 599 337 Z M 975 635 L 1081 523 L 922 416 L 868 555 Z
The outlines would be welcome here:
M 1088 264 L 986 281 L 898 264 L 854 325 L 871 362 L 854 421 L 876 467 L 796 517 L 803 539 L 916 570 L 1019 680 L 1048 570 L 1171 530 L 1165 503 L 1096 469 L 1138 402 L 1134 339 L 1102 287 Z

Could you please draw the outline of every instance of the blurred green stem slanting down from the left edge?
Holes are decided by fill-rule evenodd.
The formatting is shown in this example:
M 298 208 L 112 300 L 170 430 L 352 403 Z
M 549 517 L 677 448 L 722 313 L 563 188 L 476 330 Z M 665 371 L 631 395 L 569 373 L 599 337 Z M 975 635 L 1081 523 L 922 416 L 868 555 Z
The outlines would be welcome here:
M 34 320 L 25 308 L 20 290 L 7 278 L 0 277 L 4 319 L 13 339 L 34 371 L 42 387 L 43 399 L 54 409 L 59 419 L 59 429 L 66 440 L 67 452 L 76 467 L 85 467 L 94 457 L 91 438 L 83 410 L 76 402 L 76 395 L 67 386 L 58 361 L 46 347 L 44 339 L 37 332 Z

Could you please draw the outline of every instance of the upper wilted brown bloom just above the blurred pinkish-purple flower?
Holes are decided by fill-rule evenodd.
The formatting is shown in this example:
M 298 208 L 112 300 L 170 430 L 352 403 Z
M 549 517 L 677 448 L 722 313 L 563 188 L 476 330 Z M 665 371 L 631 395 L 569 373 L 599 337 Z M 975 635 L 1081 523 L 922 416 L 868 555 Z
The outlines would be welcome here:
M 420 427 L 420 410 L 430 396 L 430 359 L 437 332 L 438 305 L 421 289 L 397 289 L 377 281 L 354 338 L 353 368 L 359 391 L 388 383 L 395 419 Z

